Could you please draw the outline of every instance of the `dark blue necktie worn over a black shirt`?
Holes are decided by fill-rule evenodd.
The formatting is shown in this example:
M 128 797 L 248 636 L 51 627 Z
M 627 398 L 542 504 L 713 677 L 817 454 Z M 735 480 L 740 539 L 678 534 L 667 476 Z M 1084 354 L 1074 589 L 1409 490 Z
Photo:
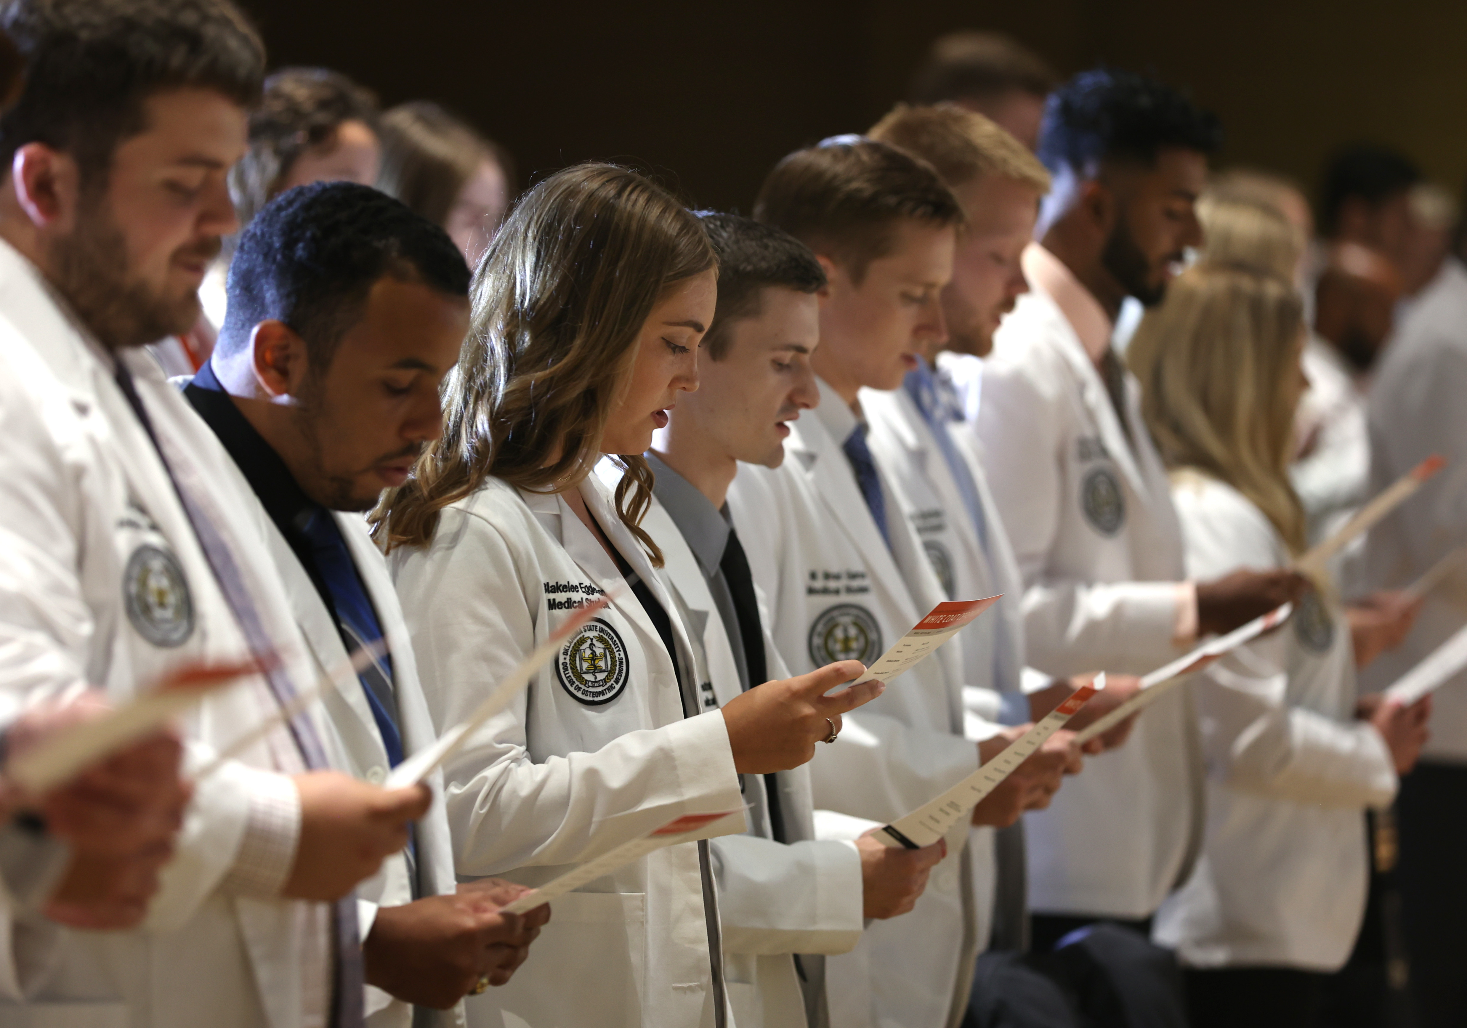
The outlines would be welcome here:
M 352 560 L 352 553 L 346 548 L 346 540 L 342 538 L 336 518 L 326 507 L 317 507 L 301 534 L 311 543 L 315 569 L 332 594 L 332 606 L 336 607 L 336 622 L 340 625 L 346 651 L 355 657 L 359 650 L 381 638 L 381 623 L 377 620 L 377 610 L 367 595 L 367 587 L 362 585 L 361 575 L 356 573 L 356 562 Z M 392 656 L 383 654 L 373 660 L 362 670 L 361 682 L 373 720 L 377 722 L 377 730 L 381 732 L 381 745 L 387 751 L 387 761 L 396 767 L 402 763 L 402 730 L 398 727 Z

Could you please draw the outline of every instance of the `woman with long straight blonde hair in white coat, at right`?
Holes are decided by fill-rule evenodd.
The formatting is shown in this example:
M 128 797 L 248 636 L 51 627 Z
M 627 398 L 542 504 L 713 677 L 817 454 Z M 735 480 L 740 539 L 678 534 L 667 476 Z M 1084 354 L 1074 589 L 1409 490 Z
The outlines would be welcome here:
M 1128 359 L 1172 474 L 1187 573 L 1285 568 L 1304 512 L 1285 472 L 1304 389 L 1301 301 L 1267 270 L 1203 261 L 1149 312 Z M 1345 612 L 1307 594 L 1278 632 L 1201 673 L 1203 856 L 1156 917 L 1193 1028 L 1319 1024 L 1367 887 L 1366 808 L 1416 763 L 1427 704 L 1358 704 Z

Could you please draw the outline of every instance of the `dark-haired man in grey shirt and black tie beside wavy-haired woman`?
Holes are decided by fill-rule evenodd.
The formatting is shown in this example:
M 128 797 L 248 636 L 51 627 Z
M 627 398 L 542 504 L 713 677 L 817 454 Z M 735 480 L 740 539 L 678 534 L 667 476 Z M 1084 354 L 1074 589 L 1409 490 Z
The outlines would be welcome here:
M 736 214 L 701 217 L 719 255 L 717 309 L 703 337 L 709 361 L 647 453 L 657 481 L 643 528 L 662 547 L 685 623 L 703 626 L 692 638 L 704 654 L 706 702 L 723 704 L 786 676 L 725 500 L 739 460 L 779 466 L 786 422 L 819 399 L 810 356 L 826 277 L 814 254 L 779 229 Z M 734 1019 L 822 1028 L 830 1024 L 824 958 L 860 941 L 863 918 L 910 911 L 940 848 L 817 840 L 805 767 L 751 776 L 744 793 L 748 833 L 713 840 L 725 972 L 751 985 L 731 996 Z

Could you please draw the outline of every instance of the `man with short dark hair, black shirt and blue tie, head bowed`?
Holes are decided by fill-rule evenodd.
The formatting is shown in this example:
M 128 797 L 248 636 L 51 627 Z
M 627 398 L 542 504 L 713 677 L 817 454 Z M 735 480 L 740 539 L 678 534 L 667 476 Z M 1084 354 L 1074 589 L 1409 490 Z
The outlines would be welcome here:
M 320 672 L 386 641 L 359 688 L 326 701 L 352 773 L 380 782 L 436 732 L 398 594 L 356 515 L 439 434 L 439 383 L 468 328 L 468 267 L 442 229 L 396 199 L 318 183 L 260 211 L 229 289 L 219 346 L 185 396 L 273 525 L 270 551 Z M 453 883 L 436 805 L 414 846 L 358 889 L 374 1027 L 422 1024 L 409 1005 L 446 1010 L 503 984 L 547 917 L 497 914 L 522 886 L 486 878 L 455 893 Z

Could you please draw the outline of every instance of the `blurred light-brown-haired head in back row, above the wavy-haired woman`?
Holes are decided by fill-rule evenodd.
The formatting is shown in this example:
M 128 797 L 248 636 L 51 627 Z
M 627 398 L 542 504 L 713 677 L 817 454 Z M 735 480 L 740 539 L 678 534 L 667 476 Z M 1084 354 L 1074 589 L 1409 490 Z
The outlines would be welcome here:
M 417 100 L 381 116 L 377 188 L 447 232 L 474 268 L 509 210 L 515 166 L 471 125 Z

